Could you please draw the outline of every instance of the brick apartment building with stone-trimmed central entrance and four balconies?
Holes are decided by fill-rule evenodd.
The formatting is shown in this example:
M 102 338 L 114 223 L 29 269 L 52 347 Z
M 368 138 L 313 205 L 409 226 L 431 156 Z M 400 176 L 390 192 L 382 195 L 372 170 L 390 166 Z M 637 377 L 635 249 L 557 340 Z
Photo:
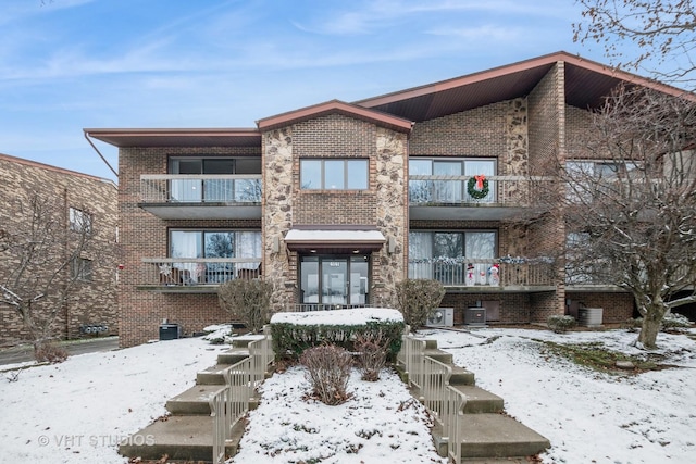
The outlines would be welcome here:
M 453 324 L 481 316 L 470 308 L 543 323 L 581 303 L 626 319 L 631 294 L 544 260 L 562 224 L 520 221 L 538 213 L 534 166 L 582 159 L 571 140 L 622 80 L 675 91 L 558 52 L 253 128 L 85 129 L 120 153 L 122 344 L 163 319 L 185 334 L 227 321 L 216 287 L 257 275 L 274 311 L 393 306 L 411 277 L 445 285 Z

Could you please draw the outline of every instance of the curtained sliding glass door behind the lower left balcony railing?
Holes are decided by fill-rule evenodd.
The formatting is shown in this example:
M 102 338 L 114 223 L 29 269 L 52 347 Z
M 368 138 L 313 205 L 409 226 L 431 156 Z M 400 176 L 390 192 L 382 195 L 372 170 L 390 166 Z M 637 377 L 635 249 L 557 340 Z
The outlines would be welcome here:
M 192 283 L 221 284 L 245 273 L 258 274 L 261 256 L 259 230 L 170 230 L 170 258 L 187 259 L 174 267 L 185 271 Z

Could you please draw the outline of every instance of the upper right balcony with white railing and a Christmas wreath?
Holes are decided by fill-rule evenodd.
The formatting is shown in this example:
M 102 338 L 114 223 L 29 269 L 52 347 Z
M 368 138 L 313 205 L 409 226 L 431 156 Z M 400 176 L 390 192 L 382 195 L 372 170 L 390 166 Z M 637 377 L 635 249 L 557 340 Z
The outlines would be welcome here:
M 472 180 L 473 179 L 473 180 Z M 409 176 L 411 220 L 502 221 L 537 212 L 532 183 L 526 176 L 486 176 L 488 191 L 482 198 L 469 192 L 473 176 Z

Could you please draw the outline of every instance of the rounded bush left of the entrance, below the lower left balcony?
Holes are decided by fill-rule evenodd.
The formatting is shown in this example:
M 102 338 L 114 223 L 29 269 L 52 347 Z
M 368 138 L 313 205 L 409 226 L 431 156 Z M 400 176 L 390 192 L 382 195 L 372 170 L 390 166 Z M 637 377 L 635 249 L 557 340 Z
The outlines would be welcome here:
M 253 333 L 269 322 L 273 285 L 262 279 L 234 279 L 217 288 L 220 306 Z

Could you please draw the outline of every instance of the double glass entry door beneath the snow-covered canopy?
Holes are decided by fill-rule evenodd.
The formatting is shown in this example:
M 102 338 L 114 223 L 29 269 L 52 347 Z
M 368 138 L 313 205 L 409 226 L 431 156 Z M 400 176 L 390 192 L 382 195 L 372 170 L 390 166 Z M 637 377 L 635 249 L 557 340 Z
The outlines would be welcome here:
M 301 256 L 300 303 L 366 304 L 366 256 Z

